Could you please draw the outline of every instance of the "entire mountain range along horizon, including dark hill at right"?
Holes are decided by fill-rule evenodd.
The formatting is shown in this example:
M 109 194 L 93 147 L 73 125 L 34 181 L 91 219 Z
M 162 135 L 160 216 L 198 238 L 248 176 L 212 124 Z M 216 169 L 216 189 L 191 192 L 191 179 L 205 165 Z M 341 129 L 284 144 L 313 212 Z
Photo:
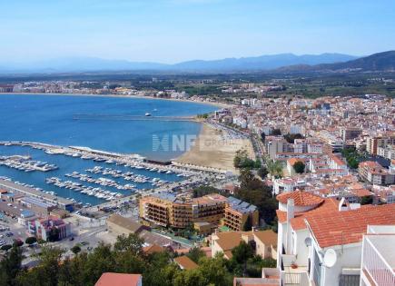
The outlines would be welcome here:
M 357 57 L 349 54 L 271 54 L 225 58 L 212 61 L 187 61 L 178 64 L 129 62 L 95 57 L 64 57 L 35 63 L 0 63 L 0 73 L 83 73 L 115 71 L 171 72 L 322 72 L 339 70 L 394 71 L 395 51 Z

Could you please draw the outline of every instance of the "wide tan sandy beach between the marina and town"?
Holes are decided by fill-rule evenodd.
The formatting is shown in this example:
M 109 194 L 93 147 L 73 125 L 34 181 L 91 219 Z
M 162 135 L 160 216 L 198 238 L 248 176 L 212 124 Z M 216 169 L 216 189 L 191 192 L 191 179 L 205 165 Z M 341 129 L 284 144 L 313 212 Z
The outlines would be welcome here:
M 174 160 L 176 163 L 193 164 L 237 173 L 233 159 L 238 150 L 245 149 L 254 159 L 252 143 L 248 139 L 232 139 L 226 131 L 203 123 L 202 131 L 190 151 Z

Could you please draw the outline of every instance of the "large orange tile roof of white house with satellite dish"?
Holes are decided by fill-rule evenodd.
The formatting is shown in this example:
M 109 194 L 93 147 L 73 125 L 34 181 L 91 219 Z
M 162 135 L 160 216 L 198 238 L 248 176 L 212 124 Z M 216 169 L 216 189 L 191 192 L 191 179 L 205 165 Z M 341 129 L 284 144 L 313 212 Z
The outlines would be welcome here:
M 362 240 L 368 224 L 395 224 L 395 204 L 365 205 L 358 210 L 306 216 L 321 248 Z

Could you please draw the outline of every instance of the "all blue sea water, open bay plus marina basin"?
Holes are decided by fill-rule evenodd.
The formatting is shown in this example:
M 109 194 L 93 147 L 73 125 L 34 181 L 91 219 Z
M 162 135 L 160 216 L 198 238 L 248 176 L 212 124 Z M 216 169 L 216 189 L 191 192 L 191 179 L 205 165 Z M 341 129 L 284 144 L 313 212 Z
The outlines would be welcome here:
M 168 161 L 187 151 L 186 148 L 172 148 L 172 138 L 178 140 L 200 133 L 201 123 L 179 121 L 174 117 L 211 113 L 218 107 L 161 99 L 130 98 L 92 95 L 49 95 L 49 94 L 2 94 L 0 95 L 0 141 L 28 141 L 50 143 L 62 146 L 84 146 L 114 153 L 136 153 L 157 161 Z M 148 118 L 146 113 L 152 116 Z M 159 146 L 158 146 L 159 143 Z M 167 145 L 166 145 L 167 143 Z M 187 143 L 184 144 L 187 146 Z M 103 199 L 84 193 L 59 188 L 45 183 L 49 177 L 63 181 L 76 179 L 64 177 L 66 173 L 86 173 L 94 166 L 111 167 L 122 172 L 143 174 L 168 182 L 183 180 L 176 174 L 137 170 L 120 165 L 83 160 L 64 155 L 50 155 L 42 150 L 27 146 L 0 146 L 0 156 L 29 155 L 32 160 L 56 164 L 59 169 L 42 173 L 25 173 L 0 166 L 0 176 L 16 182 L 25 182 L 45 191 L 55 192 L 64 198 L 93 205 L 105 202 Z M 103 177 L 92 174 L 94 178 Z M 114 179 L 109 177 L 109 179 Z M 131 183 L 114 179 L 118 183 Z M 150 182 L 136 183 L 137 189 L 151 188 Z M 84 182 L 86 186 L 97 187 Z M 102 186 L 100 186 L 102 187 Z M 104 188 L 104 187 L 102 187 Z M 105 187 L 110 192 L 130 191 Z

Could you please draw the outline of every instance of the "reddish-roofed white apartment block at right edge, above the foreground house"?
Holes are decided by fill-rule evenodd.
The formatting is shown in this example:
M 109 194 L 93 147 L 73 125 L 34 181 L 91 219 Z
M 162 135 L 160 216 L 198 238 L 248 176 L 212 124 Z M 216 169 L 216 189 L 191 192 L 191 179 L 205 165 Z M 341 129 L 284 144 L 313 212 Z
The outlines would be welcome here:
M 395 173 L 373 161 L 361 162 L 358 166 L 360 179 L 372 184 L 389 185 L 395 183 Z

